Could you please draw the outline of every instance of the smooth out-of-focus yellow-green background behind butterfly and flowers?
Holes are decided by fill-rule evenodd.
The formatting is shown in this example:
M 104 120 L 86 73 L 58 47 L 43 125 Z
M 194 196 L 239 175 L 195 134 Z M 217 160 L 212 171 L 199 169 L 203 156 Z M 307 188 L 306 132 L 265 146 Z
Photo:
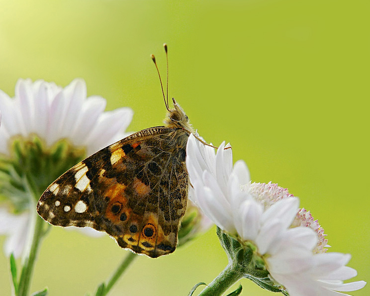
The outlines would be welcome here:
M 133 108 L 129 130 L 159 125 L 165 106 L 150 54 L 165 77 L 167 42 L 170 96 L 193 126 L 208 142 L 231 142 L 253 181 L 300 197 L 330 251 L 351 253 L 355 280 L 368 281 L 369 8 L 368 0 L 0 0 L 0 89 L 13 96 L 18 78 L 66 86 L 82 77 L 107 109 Z M 54 227 L 31 290 L 84 295 L 126 253 L 109 237 Z M 185 296 L 226 262 L 212 228 L 172 255 L 140 257 L 111 295 Z M 271 294 L 240 283 L 242 295 Z M 0 295 L 9 287 L 1 252 Z

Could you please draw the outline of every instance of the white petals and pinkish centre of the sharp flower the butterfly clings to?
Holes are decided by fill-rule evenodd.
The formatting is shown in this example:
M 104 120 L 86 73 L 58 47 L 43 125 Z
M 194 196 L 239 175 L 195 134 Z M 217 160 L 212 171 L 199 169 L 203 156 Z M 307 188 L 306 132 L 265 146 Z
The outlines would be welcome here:
M 193 202 L 223 231 L 250 242 L 272 279 L 290 296 L 334 295 L 355 291 L 365 282 L 343 284 L 356 275 L 346 267 L 349 255 L 325 253 L 323 229 L 299 200 L 275 184 L 250 183 L 243 161 L 232 165 L 231 149 L 214 149 L 193 135 L 186 146 L 186 168 Z

